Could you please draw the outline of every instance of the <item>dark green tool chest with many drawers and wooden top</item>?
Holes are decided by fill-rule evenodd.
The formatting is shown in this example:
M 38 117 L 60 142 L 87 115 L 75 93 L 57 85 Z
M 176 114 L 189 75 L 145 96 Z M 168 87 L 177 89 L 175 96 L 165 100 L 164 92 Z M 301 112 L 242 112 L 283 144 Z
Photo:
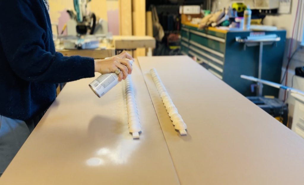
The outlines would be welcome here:
M 263 46 L 261 77 L 264 80 L 280 83 L 286 31 L 266 31 L 265 34 L 276 34 L 281 40 Z M 250 31 L 222 33 L 208 29 L 199 30 L 183 24 L 181 53 L 196 57 L 209 72 L 244 96 L 253 96 L 256 94 L 251 91 L 254 82 L 241 79 L 240 75 L 258 77 L 259 46 L 244 47 L 244 43 L 236 41 L 236 37 L 248 36 Z M 263 95 L 278 97 L 278 89 L 264 86 Z

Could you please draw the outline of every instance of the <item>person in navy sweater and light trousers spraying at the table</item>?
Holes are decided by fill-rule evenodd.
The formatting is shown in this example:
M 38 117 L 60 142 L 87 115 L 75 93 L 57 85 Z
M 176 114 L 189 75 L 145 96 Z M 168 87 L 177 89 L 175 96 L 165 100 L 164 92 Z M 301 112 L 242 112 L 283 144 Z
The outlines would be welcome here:
M 56 52 L 48 9 L 47 0 L 0 0 L 0 176 L 55 100 L 56 84 L 132 72 L 127 53 L 94 60 Z

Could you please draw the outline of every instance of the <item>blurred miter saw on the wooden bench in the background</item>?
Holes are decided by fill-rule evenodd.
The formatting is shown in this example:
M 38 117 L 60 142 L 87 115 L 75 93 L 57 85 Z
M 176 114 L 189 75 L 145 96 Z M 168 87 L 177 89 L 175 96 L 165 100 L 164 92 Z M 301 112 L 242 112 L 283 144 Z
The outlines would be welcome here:
M 96 21 L 93 12 L 87 13 L 87 4 L 91 0 L 73 0 L 74 9 L 67 10 L 71 20 L 67 22 L 67 33 L 63 39 L 65 49 L 95 49 L 99 41 L 107 37 L 107 23 Z M 76 26 L 76 32 L 75 32 Z

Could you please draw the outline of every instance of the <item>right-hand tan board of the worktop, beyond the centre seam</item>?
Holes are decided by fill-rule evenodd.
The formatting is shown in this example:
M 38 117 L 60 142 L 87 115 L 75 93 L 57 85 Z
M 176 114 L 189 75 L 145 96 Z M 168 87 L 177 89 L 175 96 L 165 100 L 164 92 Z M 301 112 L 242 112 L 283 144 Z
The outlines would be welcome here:
M 303 184 L 304 140 L 188 56 L 139 57 L 181 184 Z M 149 73 L 187 124 L 180 136 Z

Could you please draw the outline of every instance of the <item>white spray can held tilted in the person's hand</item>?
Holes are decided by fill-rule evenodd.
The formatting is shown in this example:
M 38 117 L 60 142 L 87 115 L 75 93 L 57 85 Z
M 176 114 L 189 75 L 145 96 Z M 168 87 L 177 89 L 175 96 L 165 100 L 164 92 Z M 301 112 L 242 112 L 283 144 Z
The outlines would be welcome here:
M 130 60 L 131 65 L 133 60 Z M 100 98 L 105 93 L 110 91 L 116 84 L 118 84 L 118 74 L 120 70 L 115 71 L 115 73 L 102 74 L 94 81 L 89 84 L 92 91 Z

